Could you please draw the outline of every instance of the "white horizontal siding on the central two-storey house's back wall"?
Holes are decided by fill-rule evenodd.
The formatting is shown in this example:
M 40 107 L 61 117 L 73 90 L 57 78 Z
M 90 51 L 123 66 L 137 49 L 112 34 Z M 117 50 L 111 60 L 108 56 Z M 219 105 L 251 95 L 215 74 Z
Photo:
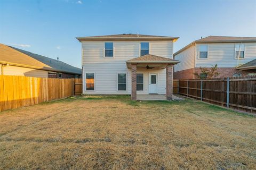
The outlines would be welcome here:
M 126 61 L 139 57 L 141 41 L 113 41 L 114 57 L 103 57 L 105 41 L 82 41 L 84 94 L 131 94 L 131 70 Z M 143 41 L 145 42 L 145 41 Z M 172 41 L 148 41 L 149 53 L 172 58 Z M 144 90 L 148 94 L 148 73 L 158 73 L 158 93 L 165 94 L 165 69 L 138 70 L 144 73 Z M 85 73 L 94 73 L 94 91 L 86 91 Z M 117 74 L 127 73 L 126 91 L 117 90 Z

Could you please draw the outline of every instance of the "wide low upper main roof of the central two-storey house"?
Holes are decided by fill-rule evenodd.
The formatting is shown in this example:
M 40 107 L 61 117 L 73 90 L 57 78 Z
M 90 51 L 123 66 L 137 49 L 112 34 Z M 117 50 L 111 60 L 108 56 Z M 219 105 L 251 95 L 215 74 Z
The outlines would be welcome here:
M 151 36 L 141 35 L 133 33 L 123 33 L 117 35 L 107 36 L 90 36 L 90 37 L 76 37 L 80 42 L 82 40 L 173 40 L 176 41 L 179 37 L 167 37 L 167 36 Z

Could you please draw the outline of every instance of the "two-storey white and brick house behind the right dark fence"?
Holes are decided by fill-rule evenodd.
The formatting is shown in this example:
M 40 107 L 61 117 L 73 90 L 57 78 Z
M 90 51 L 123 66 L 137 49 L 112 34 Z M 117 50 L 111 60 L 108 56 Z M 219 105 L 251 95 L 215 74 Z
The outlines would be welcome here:
M 174 53 L 180 63 L 174 66 L 174 79 L 194 79 L 200 67 L 218 65 L 217 78 L 256 75 L 254 67 L 241 69 L 256 59 L 256 37 L 209 36 L 190 43 Z M 205 75 L 207 77 L 207 75 Z

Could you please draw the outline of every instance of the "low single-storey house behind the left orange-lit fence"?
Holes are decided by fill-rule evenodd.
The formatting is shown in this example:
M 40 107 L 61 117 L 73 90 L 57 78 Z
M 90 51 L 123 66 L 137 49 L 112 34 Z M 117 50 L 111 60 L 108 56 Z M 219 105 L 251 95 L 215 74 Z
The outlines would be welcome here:
M 80 78 L 82 70 L 42 55 L 0 44 L 0 75 Z

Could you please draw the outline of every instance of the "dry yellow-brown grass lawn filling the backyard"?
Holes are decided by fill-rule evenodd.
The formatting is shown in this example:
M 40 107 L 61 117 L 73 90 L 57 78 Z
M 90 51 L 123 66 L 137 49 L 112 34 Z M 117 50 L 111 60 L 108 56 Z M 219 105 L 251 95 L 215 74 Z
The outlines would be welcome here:
M 256 169 L 256 118 L 190 99 L 69 98 L 0 113 L 0 169 Z

